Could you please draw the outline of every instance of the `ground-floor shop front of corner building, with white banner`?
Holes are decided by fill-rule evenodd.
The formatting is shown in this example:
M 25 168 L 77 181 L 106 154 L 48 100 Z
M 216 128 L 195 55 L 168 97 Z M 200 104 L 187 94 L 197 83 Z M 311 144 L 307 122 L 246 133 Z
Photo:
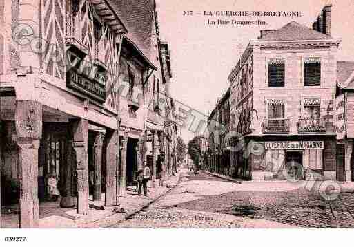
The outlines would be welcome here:
M 321 179 L 336 178 L 335 139 L 327 136 L 268 138 L 253 142 L 261 144 L 251 153 L 248 164 L 252 180 L 307 180 L 310 173 Z M 283 140 L 282 140 L 283 139 Z M 288 139 L 288 140 L 286 140 Z

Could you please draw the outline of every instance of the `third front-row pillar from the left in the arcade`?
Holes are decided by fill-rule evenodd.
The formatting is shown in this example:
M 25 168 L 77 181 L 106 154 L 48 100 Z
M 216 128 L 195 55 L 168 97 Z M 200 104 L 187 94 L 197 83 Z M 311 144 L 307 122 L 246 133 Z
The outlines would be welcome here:
M 117 202 L 117 131 L 107 131 L 104 141 L 106 158 L 106 200 L 105 205 L 115 205 Z M 118 154 L 119 155 L 119 154 Z M 118 173 L 117 173 L 118 169 Z

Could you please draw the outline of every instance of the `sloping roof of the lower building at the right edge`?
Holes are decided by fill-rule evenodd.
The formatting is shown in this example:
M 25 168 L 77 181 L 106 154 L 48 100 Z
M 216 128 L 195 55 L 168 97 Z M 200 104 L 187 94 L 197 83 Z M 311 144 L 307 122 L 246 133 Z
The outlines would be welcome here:
M 354 61 L 337 61 L 337 85 L 354 89 Z

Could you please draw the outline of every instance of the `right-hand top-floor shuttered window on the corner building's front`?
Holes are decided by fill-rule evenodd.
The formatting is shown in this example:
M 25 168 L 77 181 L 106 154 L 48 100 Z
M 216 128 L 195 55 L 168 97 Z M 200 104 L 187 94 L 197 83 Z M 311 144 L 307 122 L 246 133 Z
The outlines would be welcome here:
M 306 58 L 304 63 L 304 86 L 321 84 L 321 61 L 319 58 Z

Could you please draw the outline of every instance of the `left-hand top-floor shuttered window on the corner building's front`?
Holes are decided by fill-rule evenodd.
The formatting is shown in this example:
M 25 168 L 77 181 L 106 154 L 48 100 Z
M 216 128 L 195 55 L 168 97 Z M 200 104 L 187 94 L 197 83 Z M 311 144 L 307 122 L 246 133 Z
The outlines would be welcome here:
M 268 86 L 284 87 L 285 61 L 282 58 L 273 58 L 268 63 Z

